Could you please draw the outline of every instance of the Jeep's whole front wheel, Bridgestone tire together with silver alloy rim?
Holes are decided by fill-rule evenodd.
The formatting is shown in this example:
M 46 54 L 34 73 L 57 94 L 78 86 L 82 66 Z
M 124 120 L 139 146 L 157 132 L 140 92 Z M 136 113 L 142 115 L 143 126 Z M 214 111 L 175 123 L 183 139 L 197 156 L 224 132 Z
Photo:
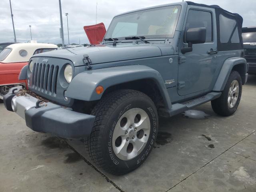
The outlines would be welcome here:
M 149 156 L 158 130 L 152 100 L 136 90 L 118 90 L 103 96 L 92 110 L 96 116 L 85 140 L 90 158 L 108 173 L 126 174 Z

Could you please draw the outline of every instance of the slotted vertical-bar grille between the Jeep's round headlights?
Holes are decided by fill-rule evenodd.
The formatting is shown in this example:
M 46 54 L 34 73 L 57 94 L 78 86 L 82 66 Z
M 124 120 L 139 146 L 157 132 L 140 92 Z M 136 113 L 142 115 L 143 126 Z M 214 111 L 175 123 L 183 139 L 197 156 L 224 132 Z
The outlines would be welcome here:
M 34 64 L 31 86 L 33 89 L 48 95 L 56 94 L 58 71 L 58 66 L 42 63 Z

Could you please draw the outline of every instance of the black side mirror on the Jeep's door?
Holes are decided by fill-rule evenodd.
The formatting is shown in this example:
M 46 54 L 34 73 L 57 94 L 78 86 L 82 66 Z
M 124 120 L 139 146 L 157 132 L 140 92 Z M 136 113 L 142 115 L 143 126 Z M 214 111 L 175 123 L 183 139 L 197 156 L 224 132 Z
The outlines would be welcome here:
M 206 28 L 189 28 L 186 32 L 186 42 L 188 42 L 188 48 L 182 47 L 181 52 L 185 54 L 186 52 L 191 52 L 193 50 L 192 44 L 205 43 L 206 41 Z

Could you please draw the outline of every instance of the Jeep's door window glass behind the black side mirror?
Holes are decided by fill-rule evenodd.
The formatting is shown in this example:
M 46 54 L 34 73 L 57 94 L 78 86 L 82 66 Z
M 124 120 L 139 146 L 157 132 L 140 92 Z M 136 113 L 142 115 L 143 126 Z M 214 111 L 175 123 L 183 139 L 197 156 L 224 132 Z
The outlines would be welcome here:
M 206 42 L 212 42 L 212 14 L 208 11 L 189 10 L 185 27 L 184 42 L 186 42 L 186 31 L 189 28 L 206 28 Z

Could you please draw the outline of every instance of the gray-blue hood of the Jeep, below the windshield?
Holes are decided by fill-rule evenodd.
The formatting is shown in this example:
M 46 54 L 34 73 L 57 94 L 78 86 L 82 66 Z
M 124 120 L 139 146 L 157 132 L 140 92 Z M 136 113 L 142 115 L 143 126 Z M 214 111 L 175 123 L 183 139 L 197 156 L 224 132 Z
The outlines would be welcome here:
M 161 47 L 161 49 L 160 49 Z M 173 48 L 170 45 L 159 44 L 117 44 L 111 45 L 95 45 L 67 48 L 62 50 L 44 52 L 36 54 L 34 57 L 55 57 L 64 58 L 73 62 L 74 66 L 84 65 L 82 60 L 84 54 L 87 54 L 92 61 L 92 65 L 108 62 L 118 62 L 124 60 L 133 60 L 140 58 L 162 56 L 161 50 L 168 48 L 169 55 L 174 54 Z

